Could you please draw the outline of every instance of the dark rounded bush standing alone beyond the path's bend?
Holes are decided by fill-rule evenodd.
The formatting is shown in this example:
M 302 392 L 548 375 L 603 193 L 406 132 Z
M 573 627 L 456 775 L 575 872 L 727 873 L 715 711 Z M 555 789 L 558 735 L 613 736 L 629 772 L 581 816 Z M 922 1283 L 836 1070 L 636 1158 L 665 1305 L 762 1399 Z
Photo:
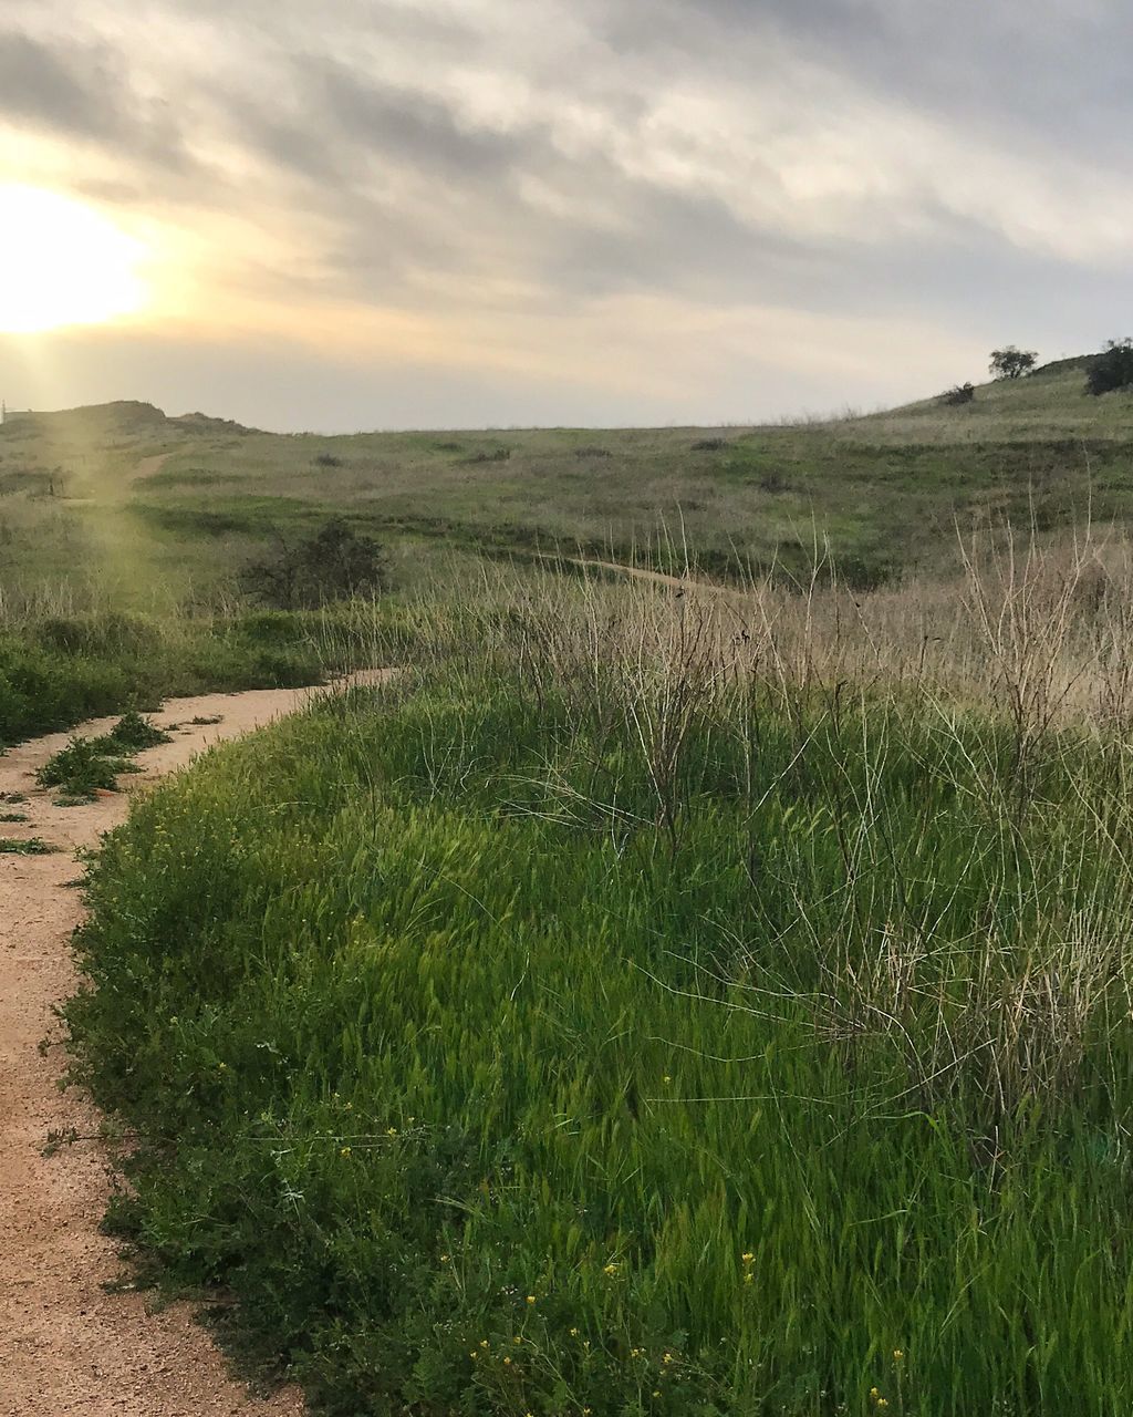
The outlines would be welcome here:
M 249 594 L 275 609 L 314 609 L 384 589 L 385 555 L 372 537 L 358 536 L 347 521 L 334 517 L 299 541 L 289 543 L 276 531 L 273 553 L 249 561 L 241 580 Z

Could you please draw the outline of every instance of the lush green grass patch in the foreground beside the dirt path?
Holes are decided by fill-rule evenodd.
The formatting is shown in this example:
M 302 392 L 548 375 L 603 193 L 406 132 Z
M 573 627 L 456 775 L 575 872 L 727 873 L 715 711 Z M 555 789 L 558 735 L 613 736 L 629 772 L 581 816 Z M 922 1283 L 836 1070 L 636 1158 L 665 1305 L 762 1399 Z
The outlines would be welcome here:
M 657 743 L 586 673 L 139 803 L 68 1009 L 120 1230 L 341 1417 L 1129 1410 L 1120 768 L 1052 740 L 1021 818 L 974 716 L 756 683 Z

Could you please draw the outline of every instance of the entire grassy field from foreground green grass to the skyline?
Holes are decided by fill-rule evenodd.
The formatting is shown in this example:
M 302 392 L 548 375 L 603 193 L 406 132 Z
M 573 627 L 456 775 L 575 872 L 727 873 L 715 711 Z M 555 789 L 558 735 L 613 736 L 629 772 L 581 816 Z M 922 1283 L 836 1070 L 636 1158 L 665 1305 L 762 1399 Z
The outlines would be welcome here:
M 0 478 L 68 495 L 0 502 L 10 663 L 119 615 L 174 646 L 150 694 L 187 643 L 401 666 L 92 866 L 67 1017 L 143 1272 L 340 1417 L 1129 1410 L 1133 408 L 1079 385 L 710 434 L 11 424 Z M 338 513 L 388 595 L 241 602 Z

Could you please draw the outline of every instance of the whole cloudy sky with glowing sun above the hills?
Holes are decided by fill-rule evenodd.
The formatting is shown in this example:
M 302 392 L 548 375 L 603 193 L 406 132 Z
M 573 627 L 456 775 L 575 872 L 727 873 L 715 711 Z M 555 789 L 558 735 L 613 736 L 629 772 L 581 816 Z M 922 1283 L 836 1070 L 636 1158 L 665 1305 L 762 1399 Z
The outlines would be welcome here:
M 3 0 L 0 397 L 892 405 L 1130 333 L 1132 122 L 1127 0 Z

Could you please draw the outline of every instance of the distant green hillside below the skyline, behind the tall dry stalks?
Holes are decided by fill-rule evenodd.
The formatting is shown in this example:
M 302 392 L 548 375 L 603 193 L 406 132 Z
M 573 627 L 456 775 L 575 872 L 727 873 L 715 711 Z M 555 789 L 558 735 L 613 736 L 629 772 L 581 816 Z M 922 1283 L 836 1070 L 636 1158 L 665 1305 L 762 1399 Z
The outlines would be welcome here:
M 273 530 L 336 513 L 391 547 L 402 584 L 436 574 L 438 548 L 797 572 L 817 538 L 867 587 L 939 564 L 957 520 L 1049 530 L 1092 503 L 1127 521 L 1130 438 L 1133 401 L 1089 398 L 1074 363 L 966 407 L 782 428 L 279 436 L 110 405 L 0 434 L 0 589 L 231 592 Z

